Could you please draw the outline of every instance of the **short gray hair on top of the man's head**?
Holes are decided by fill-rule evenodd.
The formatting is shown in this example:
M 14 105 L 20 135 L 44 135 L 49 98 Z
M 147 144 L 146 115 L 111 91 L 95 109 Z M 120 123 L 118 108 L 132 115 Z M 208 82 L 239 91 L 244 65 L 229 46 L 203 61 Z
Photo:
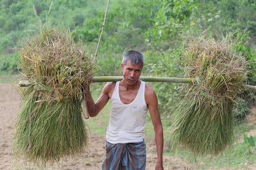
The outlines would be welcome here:
M 125 65 L 126 61 L 129 60 L 133 65 L 137 65 L 139 62 L 142 62 L 144 65 L 144 56 L 142 53 L 136 50 L 130 50 L 123 56 L 122 64 Z

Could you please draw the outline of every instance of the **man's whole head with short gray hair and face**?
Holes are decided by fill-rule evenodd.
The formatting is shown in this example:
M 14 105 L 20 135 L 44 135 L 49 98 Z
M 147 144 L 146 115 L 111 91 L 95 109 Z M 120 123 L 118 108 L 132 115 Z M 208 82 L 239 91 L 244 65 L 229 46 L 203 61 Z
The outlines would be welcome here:
M 143 64 L 144 56 L 138 51 L 132 50 L 123 56 L 121 68 L 127 84 L 134 85 L 139 80 Z

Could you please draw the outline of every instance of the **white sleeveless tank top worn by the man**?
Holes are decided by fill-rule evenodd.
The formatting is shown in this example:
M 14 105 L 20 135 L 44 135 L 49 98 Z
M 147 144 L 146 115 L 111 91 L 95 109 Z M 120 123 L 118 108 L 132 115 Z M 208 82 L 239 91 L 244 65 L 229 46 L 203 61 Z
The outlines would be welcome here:
M 119 96 L 119 81 L 111 98 L 111 112 L 106 140 L 110 143 L 134 143 L 144 139 L 147 105 L 145 102 L 145 82 L 141 81 L 140 88 L 130 104 L 121 102 Z

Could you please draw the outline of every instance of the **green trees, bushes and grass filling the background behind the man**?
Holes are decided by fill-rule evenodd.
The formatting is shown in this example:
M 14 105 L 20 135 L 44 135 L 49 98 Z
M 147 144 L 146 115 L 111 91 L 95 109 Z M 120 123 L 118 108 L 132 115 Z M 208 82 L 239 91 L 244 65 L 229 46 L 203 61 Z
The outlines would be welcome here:
M 0 2 L 0 82 L 16 84 L 16 76 L 6 75 L 18 74 L 18 70 L 21 69 L 17 67 L 19 50 L 22 47 L 20 44 L 26 40 L 26 37 L 32 35 L 31 30 L 37 27 L 33 5 L 37 15 L 42 22 L 45 22 L 51 2 L 51 0 Z M 69 28 L 74 41 L 81 39 L 88 53 L 94 54 L 105 7 L 104 0 L 54 0 L 48 17 L 49 26 L 59 30 Z M 251 0 L 113 0 L 110 2 L 106 17 L 96 58 L 98 67 L 95 67 L 94 75 L 120 76 L 121 56 L 127 50 L 137 49 L 145 56 L 146 64 L 142 76 L 185 77 L 184 69 L 187 63 L 183 59 L 182 52 L 187 48 L 189 37 L 206 35 L 216 41 L 220 41 L 222 37 L 229 37 L 233 44 L 232 48 L 248 61 L 246 67 L 249 72 L 246 83 L 256 85 L 256 13 L 254 11 L 256 11 L 256 2 Z M 174 112 L 179 101 L 177 99 L 181 95 L 183 84 L 150 83 L 150 85 L 157 92 L 163 125 L 166 129 L 172 125 L 170 113 Z M 103 83 L 95 84 L 94 92 L 98 94 L 102 86 Z M 236 130 L 241 131 L 244 128 L 242 123 L 245 114 L 248 113 L 255 99 L 255 92 L 248 90 L 242 91 L 234 99 L 237 102 L 233 105 L 233 116 L 237 119 L 235 136 L 243 136 L 244 133 L 240 134 Z M 105 131 L 103 126 L 108 124 L 109 115 L 107 111 L 103 112 L 106 113 L 103 113 L 102 117 L 87 120 L 90 128 L 102 135 Z M 150 117 L 148 120 L 150 122 Z M 151 139 L 150 128 L 152 125 L 148 123 L 146 140 Z M 255 160 L 255 147 L 250 149 L 252 154 L 248 154 L 247 151 L 245 143 L 234 144 L 230 150 L 220 156 L 209 158 L 204 167 L 216 167 L 215 164 L 218 164 L 218 168 L 242 168 L 242 164 L 247 163 L 247 160 L 248 163 Z M 182 151 L 167 154 L 185 156 L 187 160 L 194 161 Z

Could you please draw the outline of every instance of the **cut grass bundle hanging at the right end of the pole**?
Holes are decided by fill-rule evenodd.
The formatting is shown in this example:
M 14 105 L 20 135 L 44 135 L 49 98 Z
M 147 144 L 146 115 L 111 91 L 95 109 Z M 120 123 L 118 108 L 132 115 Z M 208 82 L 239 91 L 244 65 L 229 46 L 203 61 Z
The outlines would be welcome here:
M 217 155 L 233 141 L 233 99 L 245 89 L 245 59 L 232 50 L 227 38 L 191 41 L 184 53 L 186 75 L 198 82 L 185 86 L 173 113 L 173 145 L 195 156 Z

